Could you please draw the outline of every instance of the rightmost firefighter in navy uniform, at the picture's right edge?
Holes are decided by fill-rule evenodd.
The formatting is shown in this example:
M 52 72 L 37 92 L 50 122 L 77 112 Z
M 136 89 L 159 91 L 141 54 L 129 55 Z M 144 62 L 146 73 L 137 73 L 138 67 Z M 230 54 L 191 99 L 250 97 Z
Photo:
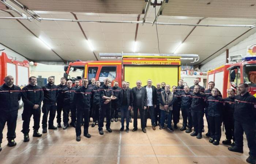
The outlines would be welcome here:
M 249 85 L 241 83 L 238 85 L 238 95 L 235 97 L 235 146 L 228 148 L 229 151 L 243 153 L 243 134 L 245 132 L 249 157 L 248 163 L 256 163 L 255 121 L 256 121 L 256 98 L 248 93 Z

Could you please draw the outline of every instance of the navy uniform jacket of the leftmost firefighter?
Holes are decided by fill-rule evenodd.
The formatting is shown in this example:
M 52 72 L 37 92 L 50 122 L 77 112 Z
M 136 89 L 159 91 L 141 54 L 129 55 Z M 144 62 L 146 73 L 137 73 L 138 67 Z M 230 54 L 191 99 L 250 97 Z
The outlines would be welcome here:
M 4 83 L 2 86 L 0 86 L 0 112 L 8 113 L 18 110 L 19 100 L 21 97 L 20 92 L 20 87 L 16 85 L 8 87 Z

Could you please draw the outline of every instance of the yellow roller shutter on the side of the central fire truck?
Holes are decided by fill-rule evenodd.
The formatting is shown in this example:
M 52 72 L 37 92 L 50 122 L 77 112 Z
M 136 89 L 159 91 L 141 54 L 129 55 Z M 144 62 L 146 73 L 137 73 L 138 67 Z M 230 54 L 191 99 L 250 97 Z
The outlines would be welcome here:
M 130 88 L 136 86 L 136 81 L 141 80 L 142 86 L 147 85 L 147 79 L 152 79 L 153 85 L 165 82 L 177 86 L 178 66 L 125 66 L 124 80 L 130 82 Z

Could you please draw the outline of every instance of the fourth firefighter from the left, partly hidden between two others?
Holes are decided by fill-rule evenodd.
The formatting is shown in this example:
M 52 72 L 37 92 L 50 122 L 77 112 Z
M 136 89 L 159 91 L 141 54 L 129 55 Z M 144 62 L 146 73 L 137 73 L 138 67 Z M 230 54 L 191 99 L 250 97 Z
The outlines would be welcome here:
M 57 87 L 58 87 L 58 93 L 59 93 L 59 95 L 61 95 L 62 90 L 67 87 L 66 78 L 64 78 L 64 77 L 60 78 L 60 84 L 57 85 Z M 63 98 L 61 98 L 61 96 L 58 96 L 57 97 L 57 117 L 56 117 L 57 123 L 58 123 L 58 125 L 57 125 L 58 128 L 61 128 L 61 124 L 60 124 L 61 123 L 61 111 L 64 112 L 63 107 L 64 107 L 63 106 Z

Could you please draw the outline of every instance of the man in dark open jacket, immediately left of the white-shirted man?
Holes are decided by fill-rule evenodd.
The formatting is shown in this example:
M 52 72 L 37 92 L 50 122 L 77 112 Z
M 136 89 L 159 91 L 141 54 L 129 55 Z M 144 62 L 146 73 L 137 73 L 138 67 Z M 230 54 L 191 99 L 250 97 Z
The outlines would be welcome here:
M 138 110 L 140 112 L 140 123 L 143 133 L 146 133 L 145 129 L 145 110 L 147 109 L 147 89 L 145 87 L 142 87 L 142 82 L 138 80 L 136 82 L 136 87 L 132 88 L 132 94 L 133 94 L 133 129 L 132 131 L 138 130 Z

